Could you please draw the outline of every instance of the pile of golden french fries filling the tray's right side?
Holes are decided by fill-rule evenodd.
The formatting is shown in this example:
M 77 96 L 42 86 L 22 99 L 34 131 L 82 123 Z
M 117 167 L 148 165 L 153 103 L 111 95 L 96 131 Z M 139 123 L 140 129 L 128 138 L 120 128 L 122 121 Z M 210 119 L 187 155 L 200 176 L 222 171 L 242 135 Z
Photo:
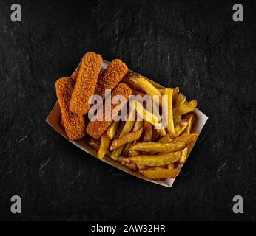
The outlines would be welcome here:
M 175 178 L 181 164 L 186 162 L 189 143 L 198 138 L 198 133 L 191 133 L 195 121 L 192 111 L 197 101 L 187 102 L 178 88 L 159 88 L 132 72 L 122 82 L 127 83 L 135 95 L 159 96 L 159 114 L 163 106 L 168 110 L 166 128 L 161 128 L 160 116 L 150 113 L 135 100 L 131 103 L 132 109 L 142 120 L 131 119 L 132 112 L 129 112 L 126 121 L 113 121 L 100 139 L 89 140 L 89 146 L 98 151 L 99 159 L 110 156 L 146 178 Z M 161 100 L 163 94 L 168 97 L 167 103 Z

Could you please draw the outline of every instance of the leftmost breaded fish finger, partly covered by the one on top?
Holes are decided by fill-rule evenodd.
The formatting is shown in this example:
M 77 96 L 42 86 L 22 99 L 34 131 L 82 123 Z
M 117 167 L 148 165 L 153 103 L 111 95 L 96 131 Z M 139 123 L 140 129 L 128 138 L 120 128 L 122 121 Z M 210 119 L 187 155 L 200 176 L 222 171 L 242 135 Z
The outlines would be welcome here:
M 61 119 L 71 140 L 81 139 L 85 136 L 84 117 L 70 111 L 70 98 L 73 91 L 74 80 L 71 77 L 62 77 L 55 83 L 58 104 L 61 108 Z

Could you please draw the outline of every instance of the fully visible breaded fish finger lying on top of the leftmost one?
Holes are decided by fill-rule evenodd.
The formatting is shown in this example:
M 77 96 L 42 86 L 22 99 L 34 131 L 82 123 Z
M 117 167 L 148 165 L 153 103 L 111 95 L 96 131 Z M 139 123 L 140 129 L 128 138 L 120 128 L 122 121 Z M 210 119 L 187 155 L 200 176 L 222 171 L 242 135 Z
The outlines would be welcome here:
M 84 115 L 89 110 L 89 98 L 94 94 L 102 62 L 101 55 L 94 52 L 84 55 L 71 96 L 70 111 Z

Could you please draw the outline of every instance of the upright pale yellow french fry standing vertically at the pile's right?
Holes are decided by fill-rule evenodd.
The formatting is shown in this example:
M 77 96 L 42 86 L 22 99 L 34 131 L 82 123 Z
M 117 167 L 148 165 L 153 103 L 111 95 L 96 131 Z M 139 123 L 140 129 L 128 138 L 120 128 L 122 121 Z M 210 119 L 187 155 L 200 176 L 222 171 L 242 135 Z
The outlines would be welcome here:
M 164 109 L 165 111 L 168 111 L 168 117 L 167 117 L 167 130 L 169 133 L 169 136 L 171 138 L 174 138 L 176 136 L 174 123 L 173 123 L 173 117 L 172 117 L 172 94 L 173 89 L 166 88 L 164 91 L 164 94 L 167 95 L 168 101 L 164 103 Z

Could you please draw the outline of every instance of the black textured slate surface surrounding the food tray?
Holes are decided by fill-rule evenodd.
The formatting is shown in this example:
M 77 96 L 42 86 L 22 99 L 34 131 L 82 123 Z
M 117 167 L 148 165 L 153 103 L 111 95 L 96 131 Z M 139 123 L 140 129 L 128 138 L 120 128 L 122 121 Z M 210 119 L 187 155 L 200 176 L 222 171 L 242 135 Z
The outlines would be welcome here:
M 10 21 L 13 3 L 0 1 L 1 220 L 255 220 L 254 1 L 239 1 L 239 23 L 235 1 L 15 1 L 22 22 Z M 99 162 L 45 122 L 55 80 L 87 51 L 179 86 L 209 116 L 171 189 Z

